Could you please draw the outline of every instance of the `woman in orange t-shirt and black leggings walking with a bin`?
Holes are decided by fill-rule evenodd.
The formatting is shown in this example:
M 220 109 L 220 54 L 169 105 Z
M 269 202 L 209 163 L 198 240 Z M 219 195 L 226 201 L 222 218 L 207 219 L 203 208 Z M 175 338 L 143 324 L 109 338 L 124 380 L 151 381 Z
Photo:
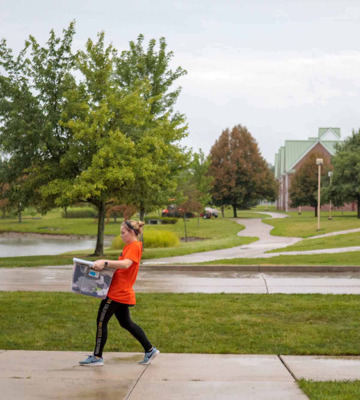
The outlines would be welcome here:
M 133 220 L 124 221 L 121 224 L 121 238 L 124 242 L 124 250 L 119 260 L 97 260 L 93 269 L 102 270 L 105 266 L 115 268 L 108 296 L 100 303 L 98 318 L 96 320 L 96 341 L 94 354 L 86 360 L 80 361 L 81 365 L 104 365 L 102 351 L 108 338 L 108 322 L 115 315 L 122 328 L 128 330 L 132 336 L 144 347 L 145 357 L 139 364 L 149 364 L 160 352 L 149 342 L 140 326 L 132 322 L 129 307 L 135 305 L 135 293 L 132 286 L 138 274 L 139 262 L 142 254 L 142 243 L 138 242 L 138 235 L 142 233 L 144 222 Z

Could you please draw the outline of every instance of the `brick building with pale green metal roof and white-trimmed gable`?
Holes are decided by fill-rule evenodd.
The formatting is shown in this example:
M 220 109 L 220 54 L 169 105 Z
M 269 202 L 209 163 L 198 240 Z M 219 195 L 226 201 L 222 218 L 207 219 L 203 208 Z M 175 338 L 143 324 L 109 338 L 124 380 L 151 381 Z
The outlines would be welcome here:
M 308 140 L 285 140 L 285 145 L 280 147 L 275 154 L 275 178 L 280 182 L 279 198 L 276 200 L 278 210 L 296 211 L 298 208 L 290 207 L 288 190 L 291 186 L 291 177 L 300 168 L 306 156 L 311 153 L 320 153 L 322 158 L 329 160 L 334 155 L 334 145 L 342 142 L 340 128 L 319 128 L 318 137 Z M 354 211 L 353 204 L 345 204 L 344 211 Z M 310 206 L 302 206 L 302 211 L 314 210 Z M 329 210 L 329 204 L 321 206 L 321 210 Z

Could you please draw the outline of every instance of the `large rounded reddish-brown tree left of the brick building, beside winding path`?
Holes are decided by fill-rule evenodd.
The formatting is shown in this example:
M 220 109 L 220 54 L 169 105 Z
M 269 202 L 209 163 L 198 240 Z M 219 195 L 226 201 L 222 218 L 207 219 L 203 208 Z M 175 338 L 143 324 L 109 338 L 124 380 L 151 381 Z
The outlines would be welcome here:
M 225 129 L 210 150 L 209 173 L 214 178 L 214 204 L 230 204 L 237 217 L 237 208 L 250 208 L 258 199 L 275 199 L 276 182 L 261 156 L 258 143 L 247 128 L 236 125 Z

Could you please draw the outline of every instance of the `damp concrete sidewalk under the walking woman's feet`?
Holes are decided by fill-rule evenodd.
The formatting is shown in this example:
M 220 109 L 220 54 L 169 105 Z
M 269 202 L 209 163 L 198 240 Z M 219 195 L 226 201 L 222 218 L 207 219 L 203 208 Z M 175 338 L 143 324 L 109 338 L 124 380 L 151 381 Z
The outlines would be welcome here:
M 360 357 L 104 353 L 104 366 L 78 364 L 83 352 L 0 350 L 6 399 L 307 399 L 295 379 L 360 378 Z

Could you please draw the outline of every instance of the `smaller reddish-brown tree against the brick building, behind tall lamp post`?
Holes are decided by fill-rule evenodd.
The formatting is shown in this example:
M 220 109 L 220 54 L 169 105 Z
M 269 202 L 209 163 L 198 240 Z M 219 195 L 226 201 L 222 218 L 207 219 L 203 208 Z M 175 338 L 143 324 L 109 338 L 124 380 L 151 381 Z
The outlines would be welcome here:
M 318 166 L 316 158 L 322 158 L 319 152 L 310 153 L 300 168 L 292 175 L 289 188 L 290 207 L 310 206 L 315 208 L 315 216 L 318 216 Z M 330 163 L 324 159 L 321 166 L 321 176 L 327 176 Z M 321 204 L 326 204 L 326 198 L 320 196 Z

